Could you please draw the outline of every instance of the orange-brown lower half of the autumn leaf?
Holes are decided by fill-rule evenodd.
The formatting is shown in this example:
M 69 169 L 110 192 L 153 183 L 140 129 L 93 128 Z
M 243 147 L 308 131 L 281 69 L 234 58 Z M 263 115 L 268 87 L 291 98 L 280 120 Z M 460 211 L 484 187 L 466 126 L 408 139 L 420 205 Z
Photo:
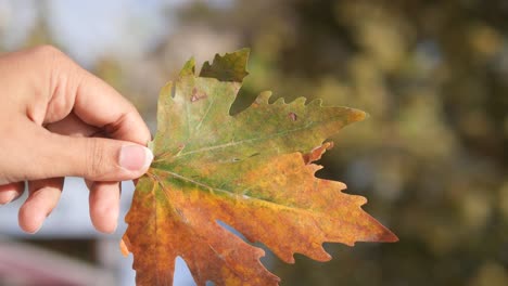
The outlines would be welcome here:
M 319 158 L 331 144 L 313 151 Z M 238 180 L 249 194 L 217 194 L 189 184 L 175 188 L 172 174 L 151 170 L 140 183 L 149 192 L 135 199 L 124 240 L 136 242 L 138 285 L 172 285 L 175 259 L 188 263 L 198 285 L 278 285 L 259 262 L 264 250 L 217 223 L 223 221 L 250 242 L 261 242 L 285 262 L 295 252 L 318 261 L 330 256 L 322 243 L 395 242 L 396 236 L 360 207 L 361 196 L 342 193 L 341 182 L 315 177 L 300 153 L 275 156 Z M 259 180 L 269 178 L 268 180 Z M 154 209 L 156 211 L 154 211 Z

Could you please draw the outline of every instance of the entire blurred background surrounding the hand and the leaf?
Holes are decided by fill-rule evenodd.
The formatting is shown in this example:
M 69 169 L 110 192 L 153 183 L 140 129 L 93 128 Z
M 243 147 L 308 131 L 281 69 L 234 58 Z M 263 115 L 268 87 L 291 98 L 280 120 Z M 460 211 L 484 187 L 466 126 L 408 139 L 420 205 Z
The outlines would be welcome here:
M 281 285 L 508 285 L 508 1 L 0 0 L 0 51 L 63 50 L 132 101 L 152 131 L 186 60 L 251 47 L 234 110 L 263 90 L 364 109 L 321 164 L 397 244 L 327 244 L 327 263 L 267 258 Z M 0 285 L 132 285 L 115 235 L 65 182 L 37 235 L 0 207 Z M 124 213 L 131 183 L 124 185 Z M 16 205 L 17 204 L 17 205 Z M 123 222 L 123 216 L 120 216 Z M 193 285 L 182 261 L 175 285 Z

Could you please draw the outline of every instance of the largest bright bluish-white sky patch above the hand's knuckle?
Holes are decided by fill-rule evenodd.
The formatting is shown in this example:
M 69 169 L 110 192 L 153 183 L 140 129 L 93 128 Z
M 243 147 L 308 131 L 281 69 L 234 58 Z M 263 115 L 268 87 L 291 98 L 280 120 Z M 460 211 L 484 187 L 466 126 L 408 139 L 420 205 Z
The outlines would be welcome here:
M 52 0 L 49 24 L 56 41 L 86 65 L 106 55 L 140 56 L 170 32 L 168 11 L 179 2 Z

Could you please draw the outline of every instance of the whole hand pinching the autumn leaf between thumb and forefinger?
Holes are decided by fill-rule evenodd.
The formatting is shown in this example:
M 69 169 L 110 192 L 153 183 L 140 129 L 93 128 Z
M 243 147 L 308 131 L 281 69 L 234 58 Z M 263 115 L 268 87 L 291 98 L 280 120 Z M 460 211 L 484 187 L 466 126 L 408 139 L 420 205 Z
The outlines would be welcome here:
M 119 181 L 153 159 L 136 108 L 52 47 L 0 56 L 0 204 L 17 198 L 20 226 L 35 233 L 56 206 L 65 176 L 86 179 L 97 230 L 116 229 Z

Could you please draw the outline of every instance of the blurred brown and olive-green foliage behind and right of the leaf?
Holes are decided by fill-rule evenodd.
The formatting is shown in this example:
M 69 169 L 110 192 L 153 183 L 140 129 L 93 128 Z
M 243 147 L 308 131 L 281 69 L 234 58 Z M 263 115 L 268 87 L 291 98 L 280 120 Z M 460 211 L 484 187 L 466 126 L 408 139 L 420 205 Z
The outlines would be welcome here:
M 370 114 L 334 139 L 320 176 L 367 196 L 401 242 L 275 259 L 282 285 L 508 285 L 507 1 L 192 1 L 176 14 L 142 61 L 93 68 L 152 129 L 158 89 L 191 53 L 241 47 L 251 76 L 232 113 L 271 89 Z

